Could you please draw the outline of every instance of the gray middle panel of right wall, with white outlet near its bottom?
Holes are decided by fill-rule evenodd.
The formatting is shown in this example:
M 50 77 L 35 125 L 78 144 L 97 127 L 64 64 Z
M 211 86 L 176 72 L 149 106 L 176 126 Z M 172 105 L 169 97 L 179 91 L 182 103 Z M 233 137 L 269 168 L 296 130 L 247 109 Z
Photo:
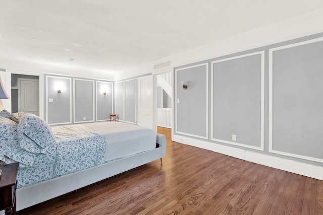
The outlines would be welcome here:
M 212 140 L 263 150 L 263 55 L 257 52 L 211 62 Z

